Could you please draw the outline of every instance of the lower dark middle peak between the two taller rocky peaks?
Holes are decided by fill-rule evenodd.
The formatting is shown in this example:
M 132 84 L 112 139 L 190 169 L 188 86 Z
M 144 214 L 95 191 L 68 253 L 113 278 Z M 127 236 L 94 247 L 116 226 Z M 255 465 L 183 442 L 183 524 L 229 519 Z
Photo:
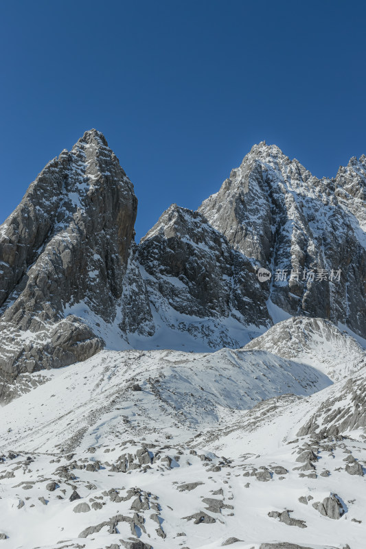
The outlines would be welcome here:
M 251 262 L 198 212 L 172 205 L 141 240 L 137 261 L 163 323 L 210 347 L 238 347 L 233 324 L 260 331 L 270 323 Z

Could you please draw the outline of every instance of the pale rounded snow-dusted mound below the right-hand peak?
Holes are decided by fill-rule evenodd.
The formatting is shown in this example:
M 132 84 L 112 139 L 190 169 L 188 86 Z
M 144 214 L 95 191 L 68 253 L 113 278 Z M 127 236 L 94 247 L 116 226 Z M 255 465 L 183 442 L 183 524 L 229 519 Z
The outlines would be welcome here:
M 334 381 L 366 366 L 365 349 L 323 318 L 289 318 L 253 339 L 244 349 L 262 349 L 309 364 Z

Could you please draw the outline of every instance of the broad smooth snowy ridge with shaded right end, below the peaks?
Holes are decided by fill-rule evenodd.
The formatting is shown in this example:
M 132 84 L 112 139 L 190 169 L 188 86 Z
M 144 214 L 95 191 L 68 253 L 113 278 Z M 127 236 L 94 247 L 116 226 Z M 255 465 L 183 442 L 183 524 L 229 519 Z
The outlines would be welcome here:
M 231 349 L 102 351 L 42 375 L 45 383 L 1 408 L 3 448 L 52 452 L 61 443 L 72 452 L 101 443 L 101 436 L 117 443 L 134 436 L 130 432 L 149 440 L 161 434 L 184 440 L 197 428 L 220 423 L 231 410 L 284 393 L 310 395 L 332 384 L 311 366 L 266 351 Z M 19 377 L 20 387 L 22 381 Z M 135 384 L 142 390 L 133 390 Z

